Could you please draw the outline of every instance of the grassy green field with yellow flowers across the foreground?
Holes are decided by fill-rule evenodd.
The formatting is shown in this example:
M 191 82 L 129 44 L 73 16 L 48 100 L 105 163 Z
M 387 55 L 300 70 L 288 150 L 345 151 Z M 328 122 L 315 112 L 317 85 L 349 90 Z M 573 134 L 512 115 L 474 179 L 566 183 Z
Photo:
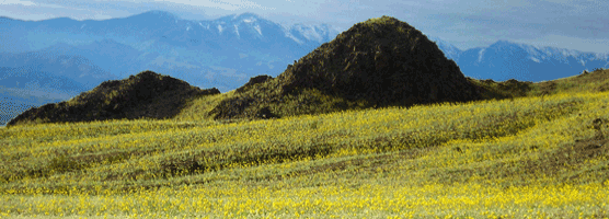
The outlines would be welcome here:
M 229 92 L 173 119 L 0 128 L 0 218 L 608 218 L 608 74 L 463 104 L 204 116 Z

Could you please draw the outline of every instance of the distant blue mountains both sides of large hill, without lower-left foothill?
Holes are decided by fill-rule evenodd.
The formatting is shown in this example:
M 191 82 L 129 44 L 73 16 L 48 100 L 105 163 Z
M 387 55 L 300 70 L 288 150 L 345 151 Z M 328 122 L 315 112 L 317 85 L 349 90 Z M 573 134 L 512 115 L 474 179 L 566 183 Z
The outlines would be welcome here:
M 117 78 L 149 69 L 221 91 L 237 89 L 257 74 L 277 76 L 340 33 L 328 24 L 286 27 L 254 13 L 208 21 L 183 20 L 164 11 L 104 21 L 0 20 L 10 31 L 7 41 L 13 42 L 0 45 L 0 53 L 16 53 L 16 48 L 59 53 L 60 47 L 72 46 L 72 55 L 93 60 Z M 506 41 L 460 50 L 438 37 L 429 38 L 466 76 L 479 79 L 552 80 L 604 68 L 609 60 L 607 54 Z M 100 49 L 105 51 L 95 54 Z

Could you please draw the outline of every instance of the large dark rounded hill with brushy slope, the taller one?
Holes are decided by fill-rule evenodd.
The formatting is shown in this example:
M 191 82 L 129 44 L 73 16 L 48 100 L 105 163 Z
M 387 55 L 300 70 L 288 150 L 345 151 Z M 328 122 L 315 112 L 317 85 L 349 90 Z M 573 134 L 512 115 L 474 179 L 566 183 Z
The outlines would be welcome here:
M 209 115 L 280 117 L 480 99 L 476 87 L 435 43 L 405 22 L 382 16 L 341 33 L 276 79 L 253 78 Z

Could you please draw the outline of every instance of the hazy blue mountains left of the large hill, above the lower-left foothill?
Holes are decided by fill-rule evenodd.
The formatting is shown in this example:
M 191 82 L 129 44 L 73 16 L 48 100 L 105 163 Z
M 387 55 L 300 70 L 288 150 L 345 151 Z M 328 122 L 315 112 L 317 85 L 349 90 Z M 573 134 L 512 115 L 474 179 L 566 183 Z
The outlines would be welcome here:
M 104 21 L 0 20 L 8 24 L 5 41 L 12 42 L 0 45 L 0 53 L 68 53 L 118 78 L 153 70 L 223 92 L 253 76 L 278 74 L 340 32 L 328 24 L 286 27 L 253 13 L 210 21 L 183 20 L 164 11 Z

